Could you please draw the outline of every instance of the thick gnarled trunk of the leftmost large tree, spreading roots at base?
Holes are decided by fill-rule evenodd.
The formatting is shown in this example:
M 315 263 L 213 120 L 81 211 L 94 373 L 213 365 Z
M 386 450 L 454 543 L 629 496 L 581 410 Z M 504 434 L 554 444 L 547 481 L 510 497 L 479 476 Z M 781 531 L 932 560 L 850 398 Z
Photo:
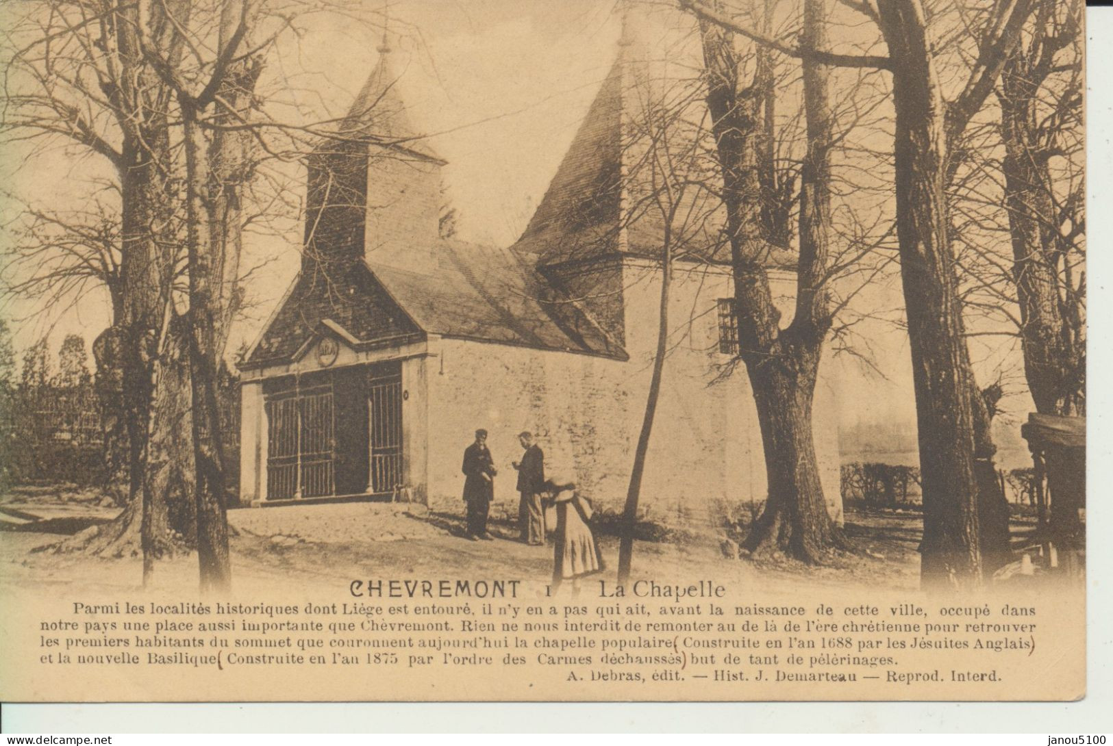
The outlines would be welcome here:
M 180 495 L 181 484 L 188 484 L 191 466 L 188 451 L 181 448 L 181 430 L 174 429 L 179 416 L 171 414 L 186 411 L 180 381 L 174 384 L 171 376 L 171 385 L 166 385 L 162 369 L 174 317 L 179 245 L 171 208 L 178 185 L 171 175 L 168 87 L 148 64 L 140 32 L 147 34 L 146 51 L 165 53 L 169 64 L 176 66 L 187 48 L 178 29 L 187 26 L 191 3 L 166 0 L 144 12 L 140 4 L 112 7 L 102 14 L 104 38 L 87 50 L 90 54 L 93 49 L 104 51 L 114 60 L 99 83 L 121 129 L 119 158 L 114 159 L 121 203 L 119 277 L 109 285 L 114 326 L 98 338 L 96 348 L 98 374 L 105 378 L 98 386 L 105 384 L 101 392 L 107 392 L 117 419 L 106 432 L 106 448 L 110 458 L 114 449 L 126 448 L 127 497 L 121 500 L 126 509 L 97 533 L 73 537 L 73 543 L 60 548 L 122 555 L 141 545 L 146 585 L 155 561 L 174 549 L 174 529 L 180 526 L 183 507 L 175 495 Z

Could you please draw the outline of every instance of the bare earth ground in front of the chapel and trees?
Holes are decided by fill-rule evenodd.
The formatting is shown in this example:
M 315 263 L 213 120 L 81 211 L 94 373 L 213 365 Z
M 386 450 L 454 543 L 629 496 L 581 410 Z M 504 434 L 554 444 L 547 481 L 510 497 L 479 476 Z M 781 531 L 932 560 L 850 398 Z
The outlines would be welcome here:
M 20 487 L 0 496 L 0 584 L 73 586 L 82 589 L 131 589 L 139 585 L 139 557 L 101 558 L 50 551 L 50 545 L 111 520 L 119 511 L 91 489 L 65 486 Z M 314 587 L 324 581 L 367 577 L 522 578 L 545 581 L 552 549 L 516 541 L 516 506 L 496 503 L 491 528 L 495 541 L 471 541 L 463 535 L 463 504 L 443 509 L 424 506 L 347 503 L 273 508 L 243 508 L 228 514 L 233 528 L 235 583 L 248 587 L 275 583 Z M 785 591 L 789 588 L 878 587 L 915 589 L 919 585 L 920 514 L 914 509 L 847 510 L 846 531 L 861 549 L 829 566 L 797 563 L 756 566 L 733 559 L 730 531 L 711 526 L 650 530 L 634 548 L 634 579 L 702 578 L 738 588 Z M 618 539 L 613 520 L 601 517 L 600 544 L 613 580 Z M 45 549 L 46 548 L 46 549 Z M 388 568 L 388 569 L 385 569 Z M 196 584 L 196 556 L 159 565 L 166 583 Z

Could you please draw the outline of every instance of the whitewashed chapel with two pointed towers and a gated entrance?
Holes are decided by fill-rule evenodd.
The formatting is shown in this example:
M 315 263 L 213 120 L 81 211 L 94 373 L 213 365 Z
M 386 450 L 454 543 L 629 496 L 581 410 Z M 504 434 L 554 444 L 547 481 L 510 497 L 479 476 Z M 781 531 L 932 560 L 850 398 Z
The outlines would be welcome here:
M 516 435 L 621 510 L 657 348 L 663 247 L 669 355 L 642 480 L 651 518 L 764 500 L 761 436 L 736 345 L 729 247 L 706 195 L 662 197 L 660 87 L 620 42 L 521 238 L 440 236 L 441 169 L 380 60 L 337 137 L 308 157 L 303 259 L 242 369 L 240 503 L 406 499 L 460 505 L 476 428 L 516 499 Z M 663 120 L 662 120 L 663 121 Z M 678 145 L 680 143 L 680 145 Z M 666 199 L 679 200 L 679 209 Z M 770 252 L 786 318 L 791 258 Z M 829 366 L 828 366 L 829 369 Z M 816 447 L 840 516 L 837 418 L 823 380 Z

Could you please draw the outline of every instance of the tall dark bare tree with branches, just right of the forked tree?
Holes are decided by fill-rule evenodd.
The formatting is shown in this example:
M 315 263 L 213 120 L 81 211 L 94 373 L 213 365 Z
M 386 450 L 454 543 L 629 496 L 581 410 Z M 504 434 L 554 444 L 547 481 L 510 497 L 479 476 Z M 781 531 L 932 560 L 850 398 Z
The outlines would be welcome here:
M 871 21 L 888 56 L 833 54 L 792 47 L 740 23 L 716 4 L 680 0 L 705 23 L 741 33 L 801 59 L 869 67 L 892 76 L 896 111 L 894 168 L 897 239 L 904 285 L 924 488 L 922 576 L 926 586 L 982 580 L 975 410 L 985 406 L 971 369 L 958 299 L 946 189 L 952 148 L 993 92 L 1015 49 L 1033 0 L 981 9 L 976 53 L 957 97 L 944 99 L 933 16 L 919 0 L 844 0 Z M 982 440 L 983 438 L 978 438 Z M 985 444 L 982 444 L 985 445 Z M 994 480 L 994 484 L 996 481 Z

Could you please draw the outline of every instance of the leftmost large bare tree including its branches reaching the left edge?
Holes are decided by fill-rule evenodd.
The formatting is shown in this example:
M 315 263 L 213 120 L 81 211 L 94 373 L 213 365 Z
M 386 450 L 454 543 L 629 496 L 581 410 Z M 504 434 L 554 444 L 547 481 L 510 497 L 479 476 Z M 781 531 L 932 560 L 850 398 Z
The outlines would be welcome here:
M 151 441 L 159 454 L 173 452 L 179 417 L 187 412 L 164 401 L 164 414 L 169 406 L 175 416 L 150 417 L 156 401 L 175 398 L 174 391 L 159 387 L 159 366 L 173 347 L 179 226 L 173 211 L 169 91 L 144 60 L 138 29 L 146 26 L 155 43 L 165 46 L 168 54 L 180 56 L 181 46 L 175 42 L 173 24 L 162 12 L 169 7 L 140 17 L 136 4 L 114 0 L 41 0 L 29 3 L 9 27 L 4 50 L 9 106 L 3 127 L 9 137 L 43 145 L 63 138 L 71 147 L 105 159 L 115 177 L 119 261 L 104 245 L 112 240 L 108 236 L 90 237 L 83 231 L 80 245 L 71 243 L 81 247 L 79 252 L 96 252 L 101 261 L 95 279 L 110 291 L 119 288 L 114 326 L 93 347 L 99 360 L 110 360 L 119 370 L 118 377 L 107 379 L 119 382 L 129 450 L 129 499 L 127 511 L 93 541 L 93 548 L 122 549 L 139 534 L 146 579 L 154 560 L 173 549 L 166 517 L 171 485 L 166 471 L 154 466 L 160 459 L 150 458 Z M 55 223 L 66 228 L 62 235 L 76 232 L 73 221 Z M 65 271 L 66 263 L 60 267 Z M 65 290 L 65 284 L 55 288 Z

